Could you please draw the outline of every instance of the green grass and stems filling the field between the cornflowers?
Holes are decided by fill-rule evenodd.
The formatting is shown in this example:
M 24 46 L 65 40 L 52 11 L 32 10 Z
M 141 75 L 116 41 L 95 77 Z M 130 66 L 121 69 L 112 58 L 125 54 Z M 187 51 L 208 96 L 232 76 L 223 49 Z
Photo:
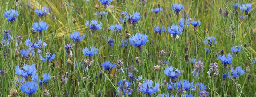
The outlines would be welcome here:
M 15 85 L 18 76 L 15 73 L 15 67 L 22 67 L 24 64 L 35 63 L 37 68 L 37 73 L 39 76 L 42 73 L 50 73 L 52 79 L 47 83 L 39 87 L 38 91 L 33 94 L 34 97 L 40 97 L 43 91 L 49 90 L 50 96 L 59 95 L 60 97 L 65 97 L 65 90 L 69 97 L 74 96 L 74 92 L 77 92 L 78 97 L 97 97 L 101 93 L 101 97 L 112 97 L 116 95 L 117 82 L 121 79 L 129 79 L 128 70 L 125 70 L 130 65 L 133 65 L 138 72 L 133 72 L 136 79 L 138 76 L 143 76 L 144 79 L 150 79 L 154 82 L 160 84 L 159 91 L 152 95 L 152 97 L 160 96 L 160 93 L 169 92 L 172 95 L 176 95 L 176 90 L 170 91 L 162 86 L 164 80 L 170 84 L 170 80 L 165 76 L 164 69 L 167 67 L 162 61 L 168 61 L 168 66 L 173 66 L 178 69 L 184 70 L 184 73 L 176 79 L 180 81 L 183 79 L 189 82 L 201 82 L 207 85 L 207 92 L 210 93 L 211 97 L 253 97 L 255 96 L 255 65 L 250 64 L 253 62 L 254 57 L 256 57 L 256 46 L 255 46 L 255 5 L 256 2 L 253 0 L 239 1 L 238 3 L 251 3 L 252 9 L 248 15 L 246 15 L 246 20 L 241 20 L 240 16 L 244 15 L 240 8 L 238 7 L 238 15 L 235 15 L 232 11 L 235 10 L 233 7 L 234 0 L 147 0 L 145 6 L 140 4 L 139 0 L 114 0 L 111 2 L 114 8 L 103 8 L 98 0 L 90 0 L 90 2 L 83 2 L 82 0 L 19 0 L 18 5 L 15 6 L 15 0 L 2 0 L 0 3 L 0 29 L 11 30 L 11 36 L 13 40 L 10 41 L 8 46 L 0 46 L 0 62 L 2 65 L 1 69 L 5 72 L 5 77 L 1 76 L 0 79 L 0 96 L 10 97 L 13 90 L 17 90 L 18 95 L 16 97 L 28 97 L 20 89 L 19 85 Z M 30 8 L 26 7 L 28 3 L 32 4 Z M 171 9 L 172 4 L 179 3 L 184 5 L 184 9 L 181 10 L 180 15 L 176 16 L 175 12 Z M 161 8 L 164 10 L 158 13 L 158 16 L 154 12 L 151 12 L 151 8 L 158 8 L 160 4 Z M 99 9 L 95 8 L 95 5 L 99 5 Z M 50 8 L 51 10 L 46 17 L 38 17 L 34 12 L 35 8 L 42 9 L 43 6 Z M 78 12 L 75 12 L 75 9 Z M 219 14 L 219 8 L 223 11 L 228 12 L 228 17 L 224 14 Z M 15 9 L 19 12 L 17 20 L 12 25 L 7 21 L 3 14 L 5 11 Z M 94 15 L 95 12 L 108 11 L 108 15 L 103 17 L 98 17 Z M 121 12 L 128 12 L 132 14 L 133 12 L 140 12 L 142 18 L 139 20 L 138 24 L 126 24 L 123 26 L 122 30 L 118 33 L 109 30 L 109 26 L 112 24 L 121 24 L 120 21 Z M 173 39 L 167 31 L 167 27 L 172 24 L 178 24 L 179 20 L 183 17 L 183 13 L 186 11 L 189 18 L 201 21 L 202 24 L 194 30 L 194 27 L 190 25 L 185 27 L 182 34 L 179 35 L 179 39 Z M 55 15 L 55 19 L 52 19 L 52 15 Z M 145 15 L 146 14 L 146 15 Z M 57 19 L 58 17 L 58 19 Z M 76 23 L 73 23 L 73 18 Z M 152 21 L 154 19 L 154 21 Z M 87 20 L 98 20 L 102 22 L 103 29 L 91 33 L 90 29 L 85 26 Z M 48 30 L 43 31 L 43 36 L 39 36 L 38 33 L 32 34 L 30 29 L 32 24 L 37 21 L 45 21 L 49 24 Z M 154 33 L 153 27 L 163 25 L 166 29 L 165 32 L 161 34 Z M 251 28 L 253 33 L 250 32 Z M 76 44 L 70 38 L 70 34 L 74 31 L 79 31 L 80 34 L 85 34 L 85 39 L 83 39 L 79 44 Z M 128 45 L 126 47 L 121 46 L 121 40 L 126 39 L 126 32 L 130 35 L 136 33 L 144 33 L 148 35 L 148 42 L 145 46 L 142 46 L 142 50 Z M 204 33 L 206 32 L 206 33 Z M 23 45 L 15 47 L 16 35 L 22 35 Z M 99 39 L 100 36 L 102 40 Z M 121 36 L 121 38 L 120 38 Z M 217 44 L 212 45 L 212 47 L 204 44 L 203 40 L 208 36 L 216 37 Z M 111 37 L 114 40 L 114 46 L 110 47 L 108 44 L 109 40 L 107 37 Z M 3 35 L 0 35 L 0 39 Z M 33 57 L 22 57 L 20 54 L 16 54 L 15 49 L 22 50 L 27 49 L 28 46 L 25 45 L 25 40 L 30 38 L 32 42 L 35 42 L 36 38 L 41 38 L 45 41 L 48 46 L 42 48 L 42 56 L 46 56 L 45 52 L 49 51 L 55 53 L 55 59 L 47 64 L 39 58 L 39 54 L 35 54 Z M 64 46 L 66 44 L 73 45 L 73 56 L 65 57 Z M 201 44 L 200 46 L 198 44 Z M 244 45 L 246 44 L 246 47 Z M 241 66 L 242 69 L 246 70 L 249 66 L 250 71 L 244 73 L 244 75 L 239 78 L 229 79 L 226 81 L 222 80 L 222 74 L 227 73 L 227 70 L 231 72 L 230 69 L 224 68 L 221 61 L 218 60 L 218 55 L 221 50 L 224 51 L 225 55 L 231 53 L 230 48 L 232 46 L 241 45 L 241 51 L 238 54 L 233 54 L 232 63 L 229 66 Z M 91 62 L 91 67 L 88 71 L 85 69 L 75 68 L 74 63 L 80 62 L 88 59 L 88 56 L 84 56 L 82 49 L 85 47 L 94 46 L 99 49 L 98 54 L 92 57 L 93 62 Z M 188 47 L 188 51 L 184 52 L 184 48 Z M 206 53 L 204 48 L 209 48 L 211 51 Z M 164 56 L 159 55 L 159 50 L 165 52 Z M 3 55 L 5 53 L 5 56 Z M 190 62 L 186 62 L 185 56 L 188 55 L 189 58 L 196 58 L 197 61 L 201 60 L 204 62 L 203 75 L 202 77 L 195 77 L 192 71 L 195 65 L 191 65 Z M 148 57 L 151 56 L 151 57 Z M 139 57 L 139 62 L 137 63 L 135 57 Z M 70 59 L 71 64 L 65 62 L 65 60 Z M 118 70 L 104 71 L 100 63 L 105 61 L 110 61 L 111 63 L 116 63 L 116 60 L 123 60 L 124 65 L 122 68 L 125 73 L 121 73 Z M 133 61 L 132 61 L 133 60 Z M 155 71 L 154 66 L 161 64 L 160 70 Z M 207 71 L 210 68 L 210 63 L 218 64 L 219 75 L 214 77 L 208 76 Z M 246 64 L 248 63 L 248 64 Z M 67 83 L 62 81 L 61 76 L 65 73 L 70 73 Z M 103 78 L 96 78 L 100 76 L 102 72 Z M 116 76 L 113 77 L 113 73 Z M 248 78 L 248 73 L 250 78 Z M 228 75 L 227 75 L 228 76 Z M 74 79 L 74 82 L 71 81 Z M 146 94 L 138 93 L 139 90 L 138 82 L 136 80 L 131 88 L 134 89 L 131 97 L 146 97 Z M 30 80 L 30 79 L 29 79 Z M 191 93 L 194 97 L 200 96 L 198 94 L 199 88 L 194 91 L 186 91 Z M 177 95 L 181 96 L 181 95 Z

